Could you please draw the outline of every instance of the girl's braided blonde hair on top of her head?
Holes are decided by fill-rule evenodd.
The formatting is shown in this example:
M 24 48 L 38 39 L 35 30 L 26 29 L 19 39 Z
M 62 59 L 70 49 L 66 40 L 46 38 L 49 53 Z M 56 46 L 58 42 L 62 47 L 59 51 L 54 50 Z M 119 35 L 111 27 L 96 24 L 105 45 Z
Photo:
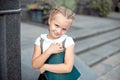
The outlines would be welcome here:
M 59 6 L 59 7 L 53 8 L 50 11 L 49 19 L 50 20 L 53 19 L 54 16 L 58 13 L 63 14 L 67 19 L 74 19 L 75 17 L 75 13 L 72 10 L 65 8 L 63 6 Z

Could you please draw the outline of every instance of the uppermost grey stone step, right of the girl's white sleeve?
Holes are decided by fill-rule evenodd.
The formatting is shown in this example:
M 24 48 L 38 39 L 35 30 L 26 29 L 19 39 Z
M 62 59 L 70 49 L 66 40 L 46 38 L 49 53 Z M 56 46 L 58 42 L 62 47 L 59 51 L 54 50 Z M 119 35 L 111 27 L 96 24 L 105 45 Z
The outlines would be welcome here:
M 92 48 L 98 47 L 100 45 L 109 43 L 113 40 L 120 38 L 120 29 L 114 30 L 108 33 L 90 37 L 87 39 L 76 41 L 75 53 L 81 54 L 84 51 L 90 50 Z

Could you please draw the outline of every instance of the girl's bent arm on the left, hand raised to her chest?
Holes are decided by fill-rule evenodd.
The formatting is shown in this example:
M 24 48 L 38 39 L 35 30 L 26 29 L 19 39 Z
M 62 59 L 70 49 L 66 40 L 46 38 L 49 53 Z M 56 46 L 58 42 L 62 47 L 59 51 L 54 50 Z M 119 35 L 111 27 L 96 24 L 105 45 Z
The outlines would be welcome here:
M 58 54 L 62 52 L 64 49 L 61 46 L 52 43 L 50 47 L 43 53 L 41 53 L 41 48 L 38 45 L 34 46 L 34 53 L 32 57 L 32 66 L 35 69 L 40 69 L 45 61 L 49 58 L 52 54 Z

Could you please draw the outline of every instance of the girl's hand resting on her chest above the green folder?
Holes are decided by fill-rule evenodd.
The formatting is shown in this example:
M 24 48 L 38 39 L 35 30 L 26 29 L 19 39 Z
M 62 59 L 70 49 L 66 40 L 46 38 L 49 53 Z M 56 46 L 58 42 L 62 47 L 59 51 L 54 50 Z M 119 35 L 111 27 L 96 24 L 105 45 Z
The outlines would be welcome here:
M 52 43 L 48 48 L 51 54 L 57 54 L 64 51 L 62 43 Z

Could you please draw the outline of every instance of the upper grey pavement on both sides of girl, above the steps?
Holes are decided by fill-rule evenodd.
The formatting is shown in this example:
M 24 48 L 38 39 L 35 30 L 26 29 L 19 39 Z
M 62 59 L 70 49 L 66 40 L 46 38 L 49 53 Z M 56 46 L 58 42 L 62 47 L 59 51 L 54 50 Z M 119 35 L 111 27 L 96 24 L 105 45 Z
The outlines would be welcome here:
M 120 13 L 111 13 L 107 18 L 93 16 L 77 15 L 72 27 L 67 34 L 78 29 L 96 28 L 96 26 L 111 26 L 111 22 L 120 21 Z M 109 25 L 108 25 L 109 24 Z M 40 35 L 47 33 L 46 25 L 34 22 L 21 22 L 21 69 L 22 80 L 37 80 L 39 71 L 31 66 L 31 58 L 35 39 Z

